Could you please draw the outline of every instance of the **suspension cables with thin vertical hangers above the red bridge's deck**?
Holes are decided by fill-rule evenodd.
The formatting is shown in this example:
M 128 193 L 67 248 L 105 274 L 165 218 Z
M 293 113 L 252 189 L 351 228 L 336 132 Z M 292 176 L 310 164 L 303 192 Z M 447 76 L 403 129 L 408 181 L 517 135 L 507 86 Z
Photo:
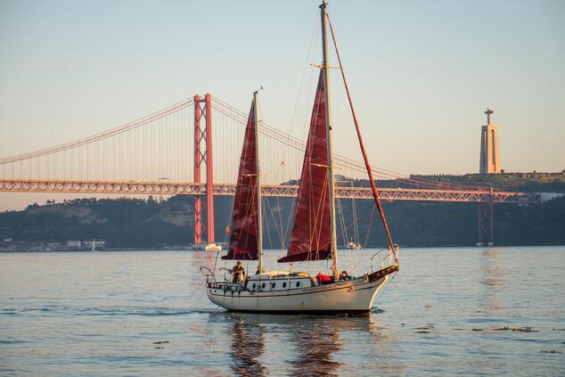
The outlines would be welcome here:
M 19 177 L 28 179 L 84 180 L 94 177 L 104 181 L 189 182 L 192 163 L 178 153 L 184 151 L 189 154 L 192 149 L 192 106 L 193 99 L 189 98 L 143 118 L 70 143 L 1 158 L 3 176 L 12 173 L 9 177 L 16 178 L 14 174 L 19 170 Z M 217 153 L 221 153 L 219 159 L 215 158 L 217 164 L 214 176 L 218 182 L 232 182 L 237 171 L 240 141 L 247 123 L 247 114 L 216 97 L 212 98 L 212 108 L 216 114 L 212 117 L 215 133 L 219 130 L 214 148 Z M 234 125 L 241 127 L 233 127 Z M 285 180 L 297 179 L 301 154 L 306 143 L 264 121 L 261 122 L 260 132 L 268 139 L 264 152 L 270 159 L 266 159 L 266 164 L 271 165 L 264 171 L 285 169 L 280 176 L 272 174 L 269 183 L 280 184 Z M 290 147 L 294 151 L 291 157 L 286 151 L 279 151 L 282 146 Z M 285 162 L 285 159 L 291 160 L 291 163 Z M 15 168 L 16 163 L 20 164 L 18 168 Z M 364 172 L 364 164 L 361 161 L 344 156 L 336 156 L 336 164 L 352 172 Z M 9 165 L 12 165 L 12 172 L 6 170 Z M 406 176 L 380 167 L 375 167 L 373 173 L 380 179 L 394 180 L 397 184 L 414 188 L 480 189 L 477 185 L 437 182 L 423 177 Z

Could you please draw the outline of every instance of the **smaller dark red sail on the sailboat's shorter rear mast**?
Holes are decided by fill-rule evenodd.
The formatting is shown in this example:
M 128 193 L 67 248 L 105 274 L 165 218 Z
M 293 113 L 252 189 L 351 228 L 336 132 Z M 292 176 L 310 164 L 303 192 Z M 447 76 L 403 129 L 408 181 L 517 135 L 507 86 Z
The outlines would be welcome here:
M 222 259 L 258 258 L 258 166 L 255 103 L 251 103 L 233 199 L 230 246 Z

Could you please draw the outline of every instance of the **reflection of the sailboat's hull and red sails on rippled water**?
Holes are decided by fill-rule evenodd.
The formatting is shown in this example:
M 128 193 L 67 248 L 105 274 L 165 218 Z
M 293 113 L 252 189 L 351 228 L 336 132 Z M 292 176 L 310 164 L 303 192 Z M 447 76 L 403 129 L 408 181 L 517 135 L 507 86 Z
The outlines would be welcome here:
M 218 313 L 212 315 L 218 316 Z M 339 375 L 342 369 L 342 349 L 355 352 L 367 338 L 374 345 L 388 343 L 381 328 L 370 315 L 364 316 L 279 316 L 226 313 L 225 323 L 231 333 L 230 367 L 238 375 Z M 344 338 L 345 337 L 345 338 Z M 364 339 L 364 341 L 359 341 Z M 359 363 L 363 357 L 379 357 L 386 345 L 371 348 L 371 355 L 355 355 Z M 364 348 L 363 352 L 367 352 Z M 387 354 L 387 351 L 384 351 Z M 343 355 L 342 357 L 349 357 Z M 348 360 L 348 363 L 351 360 Z M 282 366 L 284 365 L 284 366 Z M 279 367 L 288 367 L 281 371 Z M 390 368 L 385 368 L 389 370 Z

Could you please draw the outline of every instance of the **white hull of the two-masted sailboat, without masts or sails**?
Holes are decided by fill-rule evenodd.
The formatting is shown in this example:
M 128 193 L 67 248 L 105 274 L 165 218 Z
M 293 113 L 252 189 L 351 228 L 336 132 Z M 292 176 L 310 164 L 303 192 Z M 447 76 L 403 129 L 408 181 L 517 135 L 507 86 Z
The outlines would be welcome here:
M 380 271 L 381 272 L 381 271 Z M 214 304 L 230 311 L 261 313 L 366 313 L 389 274 L 364 275 L 352 280 L 284 291 L 238 291 L 236 285 L 215 287 L 207 294 Z

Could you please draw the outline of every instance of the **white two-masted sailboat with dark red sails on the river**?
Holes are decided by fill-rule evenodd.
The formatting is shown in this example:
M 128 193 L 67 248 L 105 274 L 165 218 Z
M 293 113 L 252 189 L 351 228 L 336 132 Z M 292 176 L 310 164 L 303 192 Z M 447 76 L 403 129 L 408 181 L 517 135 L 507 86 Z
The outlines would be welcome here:
M 377 292 L 389 279 L 389 275 L 396 273 L 399 269 L 398 247 L 390 237 L 389 227 L 382 212 L 373 172 L 364 151 L 363 140 L 352 106 L 351 111 L 356 124 L 359 145 L 372 184 L 374 201 L 387 233 L 389 251 L 386 254 L 387 258 L 381 258 L 377 271 L 373 271 L 373 258 L 371 271 L 367 271 L 364 275 L 348 276 L 340 273 L 338 268 L 327 50 L 329 18 L 326 7 L 327 4 L 323 1 L 323 4 L 320 5 L 323 64 L 320 67 L 310 120 L 291 240 L 288 254 L 279 258 L 278 262 L 287 264 L 331 259 L 332 273 L 331 275 L 321 273 L 310 275 L 304 272 L 292 272 L 291 269 L 266 271 L 263 266 L 258 159 L 258 92 L 255 92 L 245 130 L 233 201 L 230 242 L 227 255 L 222 259 L 258 260 L 258 271 L 255 275 L 235 275 L 231 280 L 220 281 L 217 280 L 215 271 L 208 267 L 201 267 L 201 271 L 207 275 L 206 293 L 210 301 L 218 307 L 224 307 L 230 311 L 282 314 L 367 313 L 373 306 L 373 299 Z M 331 23 L 330 28 L 332 28 Z M 335 46 L 340 60 L 337 45 Z M 342 68 L 341 73 L 348 93 Z M 349 94 L 348 98 L 351 104 Z M 383 250 L 386 251 L 386 249 Z

